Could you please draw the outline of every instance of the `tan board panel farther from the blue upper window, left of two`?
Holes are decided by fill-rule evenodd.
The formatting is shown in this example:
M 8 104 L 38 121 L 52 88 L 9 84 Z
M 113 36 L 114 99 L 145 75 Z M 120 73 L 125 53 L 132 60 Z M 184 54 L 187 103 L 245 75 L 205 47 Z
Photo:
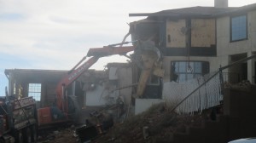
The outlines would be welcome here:
M 185 48 L 186 47 L 186 20 L 167 21 L 166 23 L 166 47 Z

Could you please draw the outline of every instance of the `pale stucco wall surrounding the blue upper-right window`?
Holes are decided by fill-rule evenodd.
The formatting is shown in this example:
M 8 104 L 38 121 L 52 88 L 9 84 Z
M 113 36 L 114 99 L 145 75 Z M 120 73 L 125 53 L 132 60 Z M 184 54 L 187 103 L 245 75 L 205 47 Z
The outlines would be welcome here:
M 218 18 L 217 20 L 217 56 L 222 57 L 220 61 L 225 65 L 230 64 L 230 56 L 236 54 L 256 54 L 256 11 L 247 13 L 247 39 L 230 42 L 230 16 Z M 228 63 L 226 63 L 228 61 Z M 247 61 L 247 79 L 255 83 L 255 60 Z M 225 66 L 223 65 L 223 66 Z

